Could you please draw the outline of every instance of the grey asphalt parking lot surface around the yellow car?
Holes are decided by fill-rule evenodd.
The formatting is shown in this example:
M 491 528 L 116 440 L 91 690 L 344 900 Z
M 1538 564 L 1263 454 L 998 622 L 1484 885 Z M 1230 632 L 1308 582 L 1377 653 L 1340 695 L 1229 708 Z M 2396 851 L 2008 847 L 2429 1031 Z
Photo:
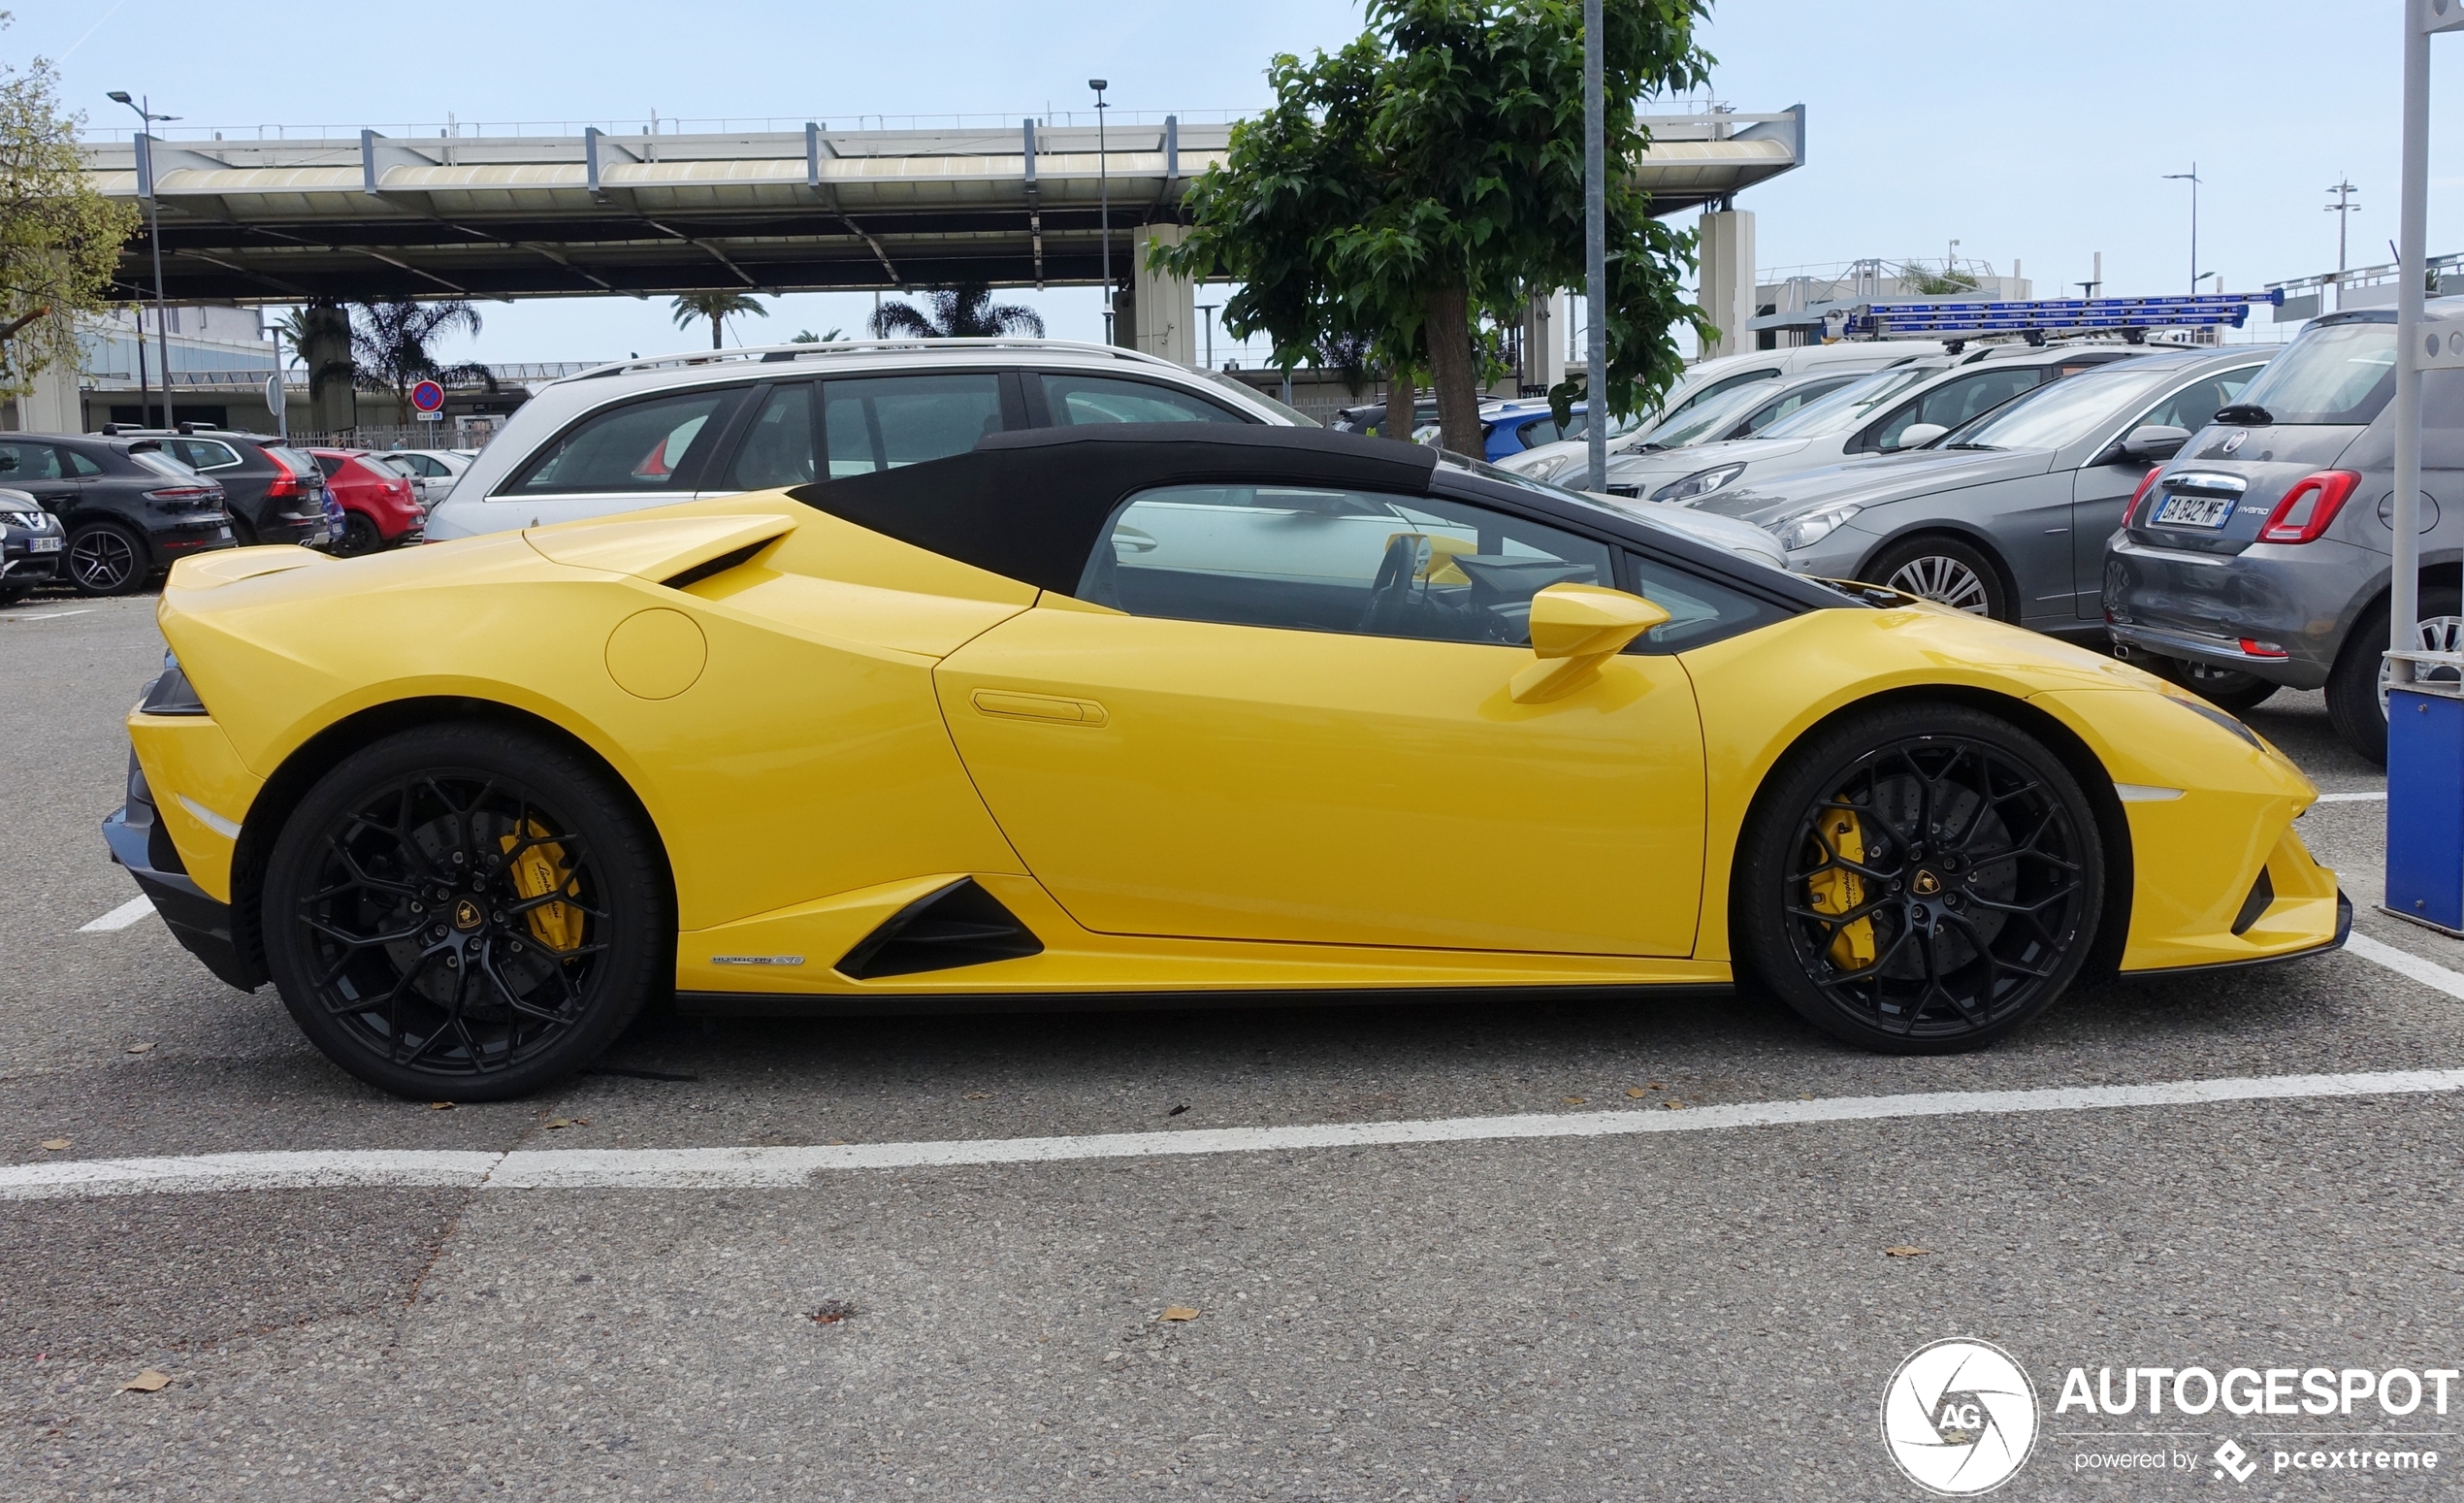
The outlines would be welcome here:
M 158 653 L 150 599 L 0 614 L 0 1165 L 1064 1143 L 7 1200 L 5 1498 L 1915 1498 L 1878 1412 L 1947 1335 L 2040 1395 L 2008 1498 L 2464 1471 L 2464 1385 L 2447 1414 L 2055 1409 L 2072 1367 L 2464 1367 L 2454 1084 L 2282 1084 L 2464 1067 L 2464 944 L 2370 912 L 2383 779 L 2316 695 L 2250 719 L 2343 796 L 2301 830 L 2365 944 L 2119 983 L 1984 1055 L 1855 1055 L 1752 998 L 650 1020 L 552 1096 L 434 1111 L 328 1067 L 158 919 L 81 929 L 133 897 L 96 823 Z M 2126 1089 L 2213 1079 L 2262 1084 Z M 2053 1089 L 2080 1094 L 1836 1106 Z M 1599 1111 L 1690 1131 L 1084 1146 Z M 148 1370 L 168 1385 L 121 1390 Z M 2210 1464 L 2227 1439 L 2247 1481 Z M 2452 1456 L 2277 1471 L 2314 1444 Z

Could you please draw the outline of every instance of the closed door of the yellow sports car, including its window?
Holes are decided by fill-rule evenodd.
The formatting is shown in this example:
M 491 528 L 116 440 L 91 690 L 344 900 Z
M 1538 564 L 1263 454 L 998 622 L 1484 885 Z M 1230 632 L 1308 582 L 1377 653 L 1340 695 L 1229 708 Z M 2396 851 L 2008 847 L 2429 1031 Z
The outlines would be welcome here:
M 1703 734 L 1671 655 L 1515 702 L 1587 537 L 1456 500 L 1173 485 L 951 653 L 958 752 L 1109 934 L 1685 956 Z

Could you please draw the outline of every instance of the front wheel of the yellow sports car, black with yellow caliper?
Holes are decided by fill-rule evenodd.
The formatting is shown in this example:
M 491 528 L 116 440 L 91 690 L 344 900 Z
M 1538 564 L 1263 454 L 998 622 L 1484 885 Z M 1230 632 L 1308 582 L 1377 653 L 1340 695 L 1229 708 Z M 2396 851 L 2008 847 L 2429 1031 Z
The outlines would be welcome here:
M 1912 702 L 1846 715 L 1772 769 L 1730 931 L 1740 973 L 1823 1032 L 1949 1055 L 2050 1008 L 2102 907 L 2102 835 L 2070 769 L 1996 715 Z

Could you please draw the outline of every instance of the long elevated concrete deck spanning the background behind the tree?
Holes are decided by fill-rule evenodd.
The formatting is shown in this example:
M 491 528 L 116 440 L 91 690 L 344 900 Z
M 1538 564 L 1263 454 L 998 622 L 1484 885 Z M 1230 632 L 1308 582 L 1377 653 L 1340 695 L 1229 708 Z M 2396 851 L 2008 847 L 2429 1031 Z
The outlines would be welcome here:
M 1646 118 L 1658 212 L 1804 160 L 1804 108 Z M 1129 276 L 1230 126 L 382 136 L 89 143 L 108 197 L 153 197 L 177 303 L 914 288 Z M 153 293 L 143 234 L 121 259 Z

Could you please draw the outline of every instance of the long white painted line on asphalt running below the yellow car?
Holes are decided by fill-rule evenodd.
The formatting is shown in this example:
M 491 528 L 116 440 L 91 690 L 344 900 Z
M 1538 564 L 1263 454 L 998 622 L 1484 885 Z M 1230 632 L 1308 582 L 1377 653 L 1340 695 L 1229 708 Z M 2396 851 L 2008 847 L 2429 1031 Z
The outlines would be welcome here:
M 1427 1121 L 1340 1121 L 1279 1128 L 1185 1128 L 1079 1138 L 961 1138 L 946 1143 L 833 1143 L 821 1148 L 557 1148 L 517 1153 L 347 1151 L 200 1153 L 190 1158 L 94 1158 L 0 1168 L 0 1200 L 143 1195 L 200 1190 L 318 1190 L 448 1185 L 466 1190 L 727 1190 L 798 1188 L 818 1175 L 865 1168 L 978 1163 L 1069 1163 L 1188 1153 L 1276 1153 L 1498 1138 L 1619 1138 L 1703 1133 L 1905 1116 L 2001 1116 L 2102 1111 L 2117 1106 L 2210 1106 L 2316 1096 L 2412 1096 L 2464 1092 L 2464 1069 L 2375 1069 L 2353 1074 L 2264 1074 L 2178 1079 L 2141 1087 L 2055 1087 L 2035 1092 L 1924 1092 L 1752 1101 L 1685 1111 L 1562 1111 L 1533 1116 L 1444 1116 Z

